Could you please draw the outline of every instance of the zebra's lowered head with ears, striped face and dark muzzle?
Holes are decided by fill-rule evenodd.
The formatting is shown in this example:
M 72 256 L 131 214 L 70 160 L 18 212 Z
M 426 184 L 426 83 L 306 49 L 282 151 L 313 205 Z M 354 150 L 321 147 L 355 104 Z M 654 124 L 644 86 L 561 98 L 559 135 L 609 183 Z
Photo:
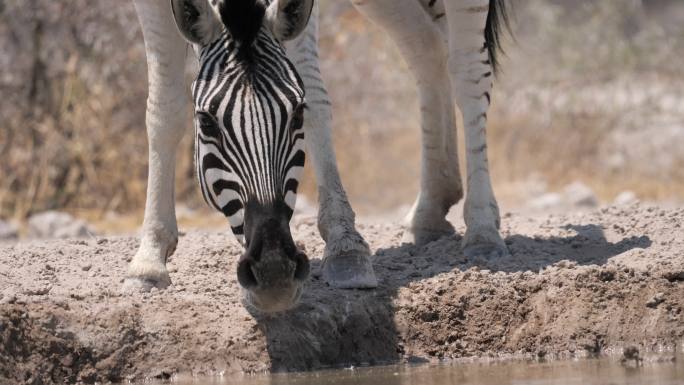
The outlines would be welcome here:
M 171 0 L 199 56 L 192 86 L 195 163 L 206 201 L 245 246 L 237 277 L 249 305 L 292 307 L 309 274 L 289 221 L 304 166 L 304 86 L 283 41 L 313 0 Z

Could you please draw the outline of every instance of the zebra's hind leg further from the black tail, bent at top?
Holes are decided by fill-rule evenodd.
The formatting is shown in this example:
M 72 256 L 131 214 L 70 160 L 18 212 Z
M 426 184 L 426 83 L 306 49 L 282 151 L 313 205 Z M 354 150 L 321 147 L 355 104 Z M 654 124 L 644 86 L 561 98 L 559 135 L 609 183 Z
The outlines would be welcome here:
M 425 244 L 453 227 L 445 219 L 463 197 L 458 167 L 456 122 L 447 73 L 447 47 L 433 16 L 415 0 L 353 0 L 399 48 L 418 87 L 422 130 L 420 193 L 407 216 L 404 240 Z M 434 5 L 434 2 L 429 5 Z

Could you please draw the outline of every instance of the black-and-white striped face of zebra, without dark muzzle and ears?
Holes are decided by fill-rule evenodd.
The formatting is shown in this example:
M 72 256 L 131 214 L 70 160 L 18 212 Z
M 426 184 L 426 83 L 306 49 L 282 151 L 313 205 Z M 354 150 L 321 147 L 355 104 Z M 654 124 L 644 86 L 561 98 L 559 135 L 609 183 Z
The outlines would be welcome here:
M 243 241 L 247 202 L 294 210 L 304 166 L 304 85 L 262 27 L 249 46 L 224 31 L 200 50 L 195 163 L 205 200 Z M 245 52 L 248 50 L 248 52 Z

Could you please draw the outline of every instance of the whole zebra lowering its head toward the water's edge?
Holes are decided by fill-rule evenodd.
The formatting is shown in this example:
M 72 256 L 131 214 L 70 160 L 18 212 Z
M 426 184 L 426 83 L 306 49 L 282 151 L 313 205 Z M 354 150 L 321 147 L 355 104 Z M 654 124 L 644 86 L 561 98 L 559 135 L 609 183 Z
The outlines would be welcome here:
M 171 284 L 166 261 L 178 242 L 174 171 L 187 105 L 186 49 L 199 61 L 193 82 L 195 163 L 202 194 L 244 245 L 237 280 L 246 304 L 292 308 L 309 275 L 289 229 L 305 147 L 326 243 L 322 278 L 340 289 L 378 285 L 368 244 L 340 180 L 331 139 L 332 106 L 318 60 L 314 0 L 134 0 L 148 63 L 149 173 L 140 247 L 126 290 Z M 467 256 L 507 253 L 487 161 L 486 120 L 504 0 L 351 0 L 383 28 L 413 74 L 420 99 L 420 192 L 405 240 L 426 244 L 454 228 L 445 219 L 464 196 L 455 107 L 467 156 Z M 180 33 L 179 33 L 180 32 Z

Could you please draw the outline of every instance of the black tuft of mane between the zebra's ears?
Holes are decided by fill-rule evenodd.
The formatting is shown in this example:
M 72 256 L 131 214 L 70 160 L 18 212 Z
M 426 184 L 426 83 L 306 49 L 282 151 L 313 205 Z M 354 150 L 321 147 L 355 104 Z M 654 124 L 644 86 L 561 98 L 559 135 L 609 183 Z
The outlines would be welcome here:
M 251 47 L 264 22 L 264 3 L 260 0 L 223 0 L 218 10 L 223 25 L 240 49 Z

